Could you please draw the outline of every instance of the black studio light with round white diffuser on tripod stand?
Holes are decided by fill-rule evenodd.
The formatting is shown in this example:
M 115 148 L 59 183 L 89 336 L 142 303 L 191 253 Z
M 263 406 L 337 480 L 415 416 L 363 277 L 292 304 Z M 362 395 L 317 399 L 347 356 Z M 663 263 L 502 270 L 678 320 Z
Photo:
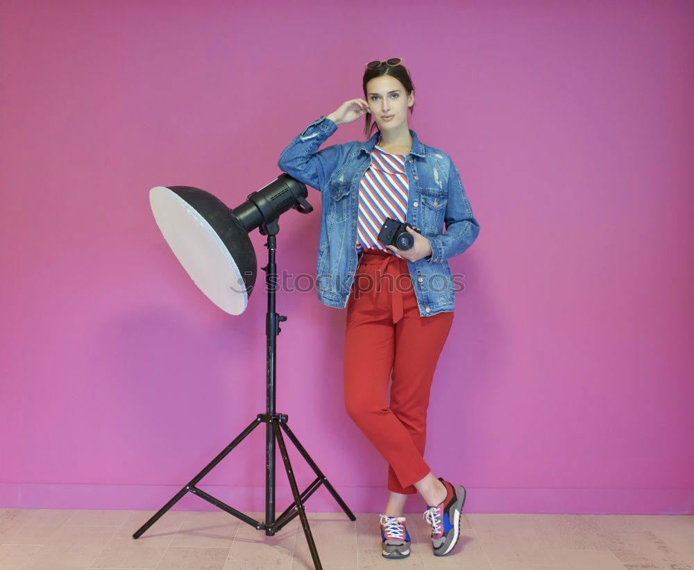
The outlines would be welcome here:
M 277 234 L 280 230 L 279 217 L 294 209 L 302 214 L 313 211 L 305 199 L 306 186 L 282 173 L 276 180 L 257 192 L 248 194 L 246 201 L 237 208 L 228 208 L 217 197 L 192 186 L 155 186 L 149 191 L 149 201 L 154 218 L 174 255 L 183 265 L 188 275 L 200 290 L 221 310 L 230 315 L 240 315 L 248 306 L 248 299 L 255 287 L 257 261 L 251 238 L 248 233 L 256 228 L 267 236 L 266 248 L 268 263 L 265 271 L 267 290 L 266 334 L 266 410 L 257 414 L 251 424 L 224 448 L 217 456 L 192 478 L 171 500 L 146 521 L 133 534 L 139 538 L 162 515 L 174 506 L 185 494 L 192 493 L 212 505 L 232 514 L 258 530 L 272 536 L 289 521 L 298 516 L 301 519 L 311 558 L 316 570 L 322 570 L 321 560 L 316 549 L 311 528 L 306 517 L 304 503 L 321 485 L 325 485 L 335 501 L 344 510 L 350 521 L 356 517 L 339 496 L 335 487 L 316 465 L 308 452 L 291 432 L 287 414 L 276 412 L 276 338 L 280 334 L 279 324 L 286 321 L 285 315 L 275 311 L 277 265 Z M 248 378 L 233 378 L 235 382 L 251 381 Z M 195 378 L 196 387 L 201 378 Z M 192 389 L 196 389 L 193 387 Z M 232 451 L 251 432 L 265 424 L 265 521 L 257 521 L 247 514 L 230 507 L 198 487 L 198 483 L 223 458 Z M 299 491 L 291 469 L 287 446 L 282 435 L 294 444 L 305 461 L 316 474 L 316 478 L 303 491 Z M 287 471 L 289 487 L 294 496 L 291 503 L 278 517 L 275 513 L 275 445 L 280 448 L 282 461 Z

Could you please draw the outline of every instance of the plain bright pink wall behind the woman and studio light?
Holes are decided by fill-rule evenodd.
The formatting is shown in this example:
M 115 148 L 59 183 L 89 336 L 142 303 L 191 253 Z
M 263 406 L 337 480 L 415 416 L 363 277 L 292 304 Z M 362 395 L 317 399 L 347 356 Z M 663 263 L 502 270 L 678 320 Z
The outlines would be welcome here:
M 694 5 L 434 4 L 5 3 L 0 507 L 158 508 L 264 410 L 264 296 L 212 305 L 149 189 L 237 206 L 362 97 L 364 62 L 402 56 L 411 128 L 482 226 L 451 263 L 434 473 L 469 512 L 693 512 Z M 314 275 L 319 221 L 282 217 L 280 269 Z M 278 411 L 353 510 L 382 510 L 387 465 L 342 400 L 344 311 L 312 290 L 278 312 Z M 263 442 L 201 487 L 262 510 Z M 307 508 L 337 505 L 319 489 Z

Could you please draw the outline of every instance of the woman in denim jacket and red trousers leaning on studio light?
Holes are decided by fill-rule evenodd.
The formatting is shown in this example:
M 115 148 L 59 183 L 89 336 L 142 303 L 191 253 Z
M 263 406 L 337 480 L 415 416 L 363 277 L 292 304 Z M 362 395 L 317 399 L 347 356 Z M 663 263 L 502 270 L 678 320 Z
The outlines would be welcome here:
M 414 85 L 404 61 L 367 63 L 362 87 L 365 99 L 310 124 L 278 165 L 322 192 L 316 291 L 325 305 L 347 308 L 346 410 L 389 463 L 382 553 L 409 555 L 403 510 L 419 492 L 430 505 L 424 516 L 434 554 L 442 556 L 457 542 L 466 491 L 436 478 L 424 461 L 426 414 L 455 307 L 448 260 L 471 246 L 480 226 L 450 157 L 409 129 Z M 369 140 L 318 150 L 338 125 L 362 116 L 366 137 L 376 129 Z M 387 218 L 418 228 L 406 226 L 409 249 L 378 240 Z

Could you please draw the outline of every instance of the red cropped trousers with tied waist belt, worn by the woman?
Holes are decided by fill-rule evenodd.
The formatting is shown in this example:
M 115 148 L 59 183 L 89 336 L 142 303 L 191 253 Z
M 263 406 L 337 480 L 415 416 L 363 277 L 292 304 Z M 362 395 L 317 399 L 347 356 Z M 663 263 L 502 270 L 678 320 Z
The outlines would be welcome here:
M 429 394 L 452 321 L 452 312 L 419 315 L 407 260 L 364 251 L 347 302 L 345 407 L 387 460 L 389 491 L 414 494 L 431 471 L 423 458 Z

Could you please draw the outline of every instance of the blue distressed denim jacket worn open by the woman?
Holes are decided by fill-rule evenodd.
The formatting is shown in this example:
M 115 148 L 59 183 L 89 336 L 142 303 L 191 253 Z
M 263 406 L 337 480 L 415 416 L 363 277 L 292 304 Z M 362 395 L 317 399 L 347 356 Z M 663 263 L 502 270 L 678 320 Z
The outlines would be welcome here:
M 296 135 L 282 151 L 278 166 L 292 178 L 321 192 L 323 212 L 316 265 L 318 299 L 329 307 L 345 308 L 359 265 L 357 214 L 359 183 L 371 164 L 378 132 L 366 142 L 319 147 L 337 125 L 323 116 Z M 409 276 L 422 317 L 455 308 L 454 279 L 448 260 L 463 253 L 480 233 L 463 184 L 450 156 L 412 135 L 405 160 L 409 181 L 407 219 L 432 245 L 432 255 L 407 260 Z M 443 232 L 443 224 L 446 232 Z M 459 285 L 458 285 L 459 286 Z

